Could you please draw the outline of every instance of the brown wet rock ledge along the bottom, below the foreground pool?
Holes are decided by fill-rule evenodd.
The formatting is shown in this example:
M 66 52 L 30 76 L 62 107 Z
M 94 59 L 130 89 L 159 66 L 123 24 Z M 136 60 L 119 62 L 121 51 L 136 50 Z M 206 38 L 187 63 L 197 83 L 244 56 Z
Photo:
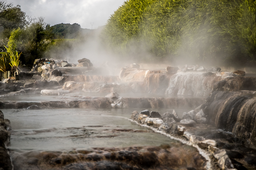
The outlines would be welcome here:
M 65 152 L 31 151 L 16 158 L 20 170 L 203 170 L 205 159 L 183 144 L 128 148 L 92 148 Z

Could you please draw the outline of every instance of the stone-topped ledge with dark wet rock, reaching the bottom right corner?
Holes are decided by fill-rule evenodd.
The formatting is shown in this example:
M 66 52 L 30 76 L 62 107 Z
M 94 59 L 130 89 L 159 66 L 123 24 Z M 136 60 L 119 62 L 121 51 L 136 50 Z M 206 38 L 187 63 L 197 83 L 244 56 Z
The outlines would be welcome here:
M 149 110 L 140 113 L 134 111 L 130 120 L 204 150 L 212 169 L 255 169 L 256 150 L 252 145 L 234 133 L 206 124 L 206 119 L 201 122 L 206 116 L 201 109 L 203 107 L 201 105 L 195 109 L 197 111 L 183 113 L 182 118 L 177 116 L 175 110 L 164 114 L 155 111 L 149 113 Z

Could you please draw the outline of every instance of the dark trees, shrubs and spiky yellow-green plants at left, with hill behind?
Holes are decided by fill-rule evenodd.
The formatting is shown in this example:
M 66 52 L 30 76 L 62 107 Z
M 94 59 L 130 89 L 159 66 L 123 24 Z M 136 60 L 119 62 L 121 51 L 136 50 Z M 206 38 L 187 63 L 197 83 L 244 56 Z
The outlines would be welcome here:
M 61 58 L 90 31 L 76 23 L 50 26 L 43 17 L 28 17 L 21 6 L 0 0 L 0 71 L 15 71 L 13 60 L 32 68 L 34 59 Z

